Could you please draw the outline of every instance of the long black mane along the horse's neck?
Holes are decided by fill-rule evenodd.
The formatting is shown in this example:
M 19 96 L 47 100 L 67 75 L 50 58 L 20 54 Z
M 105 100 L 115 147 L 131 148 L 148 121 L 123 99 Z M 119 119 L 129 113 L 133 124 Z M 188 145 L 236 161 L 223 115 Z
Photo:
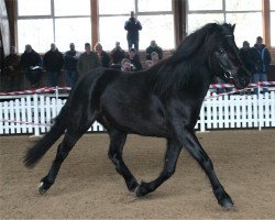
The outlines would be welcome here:
M 186 86 L 198 67 L 208 63 L 213 50 L 222 43 L 222 33 L 232 34 L 231 24 L 209 23 L 188 35 L 174 54 L 160 62 L 147 73 L 152 74 L 155 92 L 163 96 L 172 88 Z M 211 66 L 209 65 L 209 68 Z

